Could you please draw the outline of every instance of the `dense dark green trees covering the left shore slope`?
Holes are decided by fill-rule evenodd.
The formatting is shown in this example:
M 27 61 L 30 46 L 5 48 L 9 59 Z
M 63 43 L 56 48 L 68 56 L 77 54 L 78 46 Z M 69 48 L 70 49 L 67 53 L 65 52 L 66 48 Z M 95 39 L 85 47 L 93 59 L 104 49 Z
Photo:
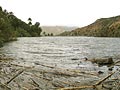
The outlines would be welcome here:
M 28 18 L 29 23 L 18 19 L 13 12 L 8 12 L 0 7 L 0 46 L 4 42 L 15 40 L 16 37 L 39 37 L 42 29 L 40 23 L 32 25 L 32 19 Z

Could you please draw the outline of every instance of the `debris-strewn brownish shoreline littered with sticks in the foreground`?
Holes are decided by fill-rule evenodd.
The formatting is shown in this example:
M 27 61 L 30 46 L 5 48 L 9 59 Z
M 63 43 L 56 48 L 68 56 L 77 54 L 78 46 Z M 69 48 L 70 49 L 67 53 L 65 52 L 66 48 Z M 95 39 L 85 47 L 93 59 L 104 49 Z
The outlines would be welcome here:
M 119 60 L 118 60 L 119 61 Z M 81 61 L 86 62 L 86 61 Z M 79 64 L 80 65 L 80 64 Z M 94 66 L 94 64 L 93 64 Z M 35 62 L 23 62 L 2 56 L 0 61 L 0 90 L 120 90 L 120 62 L 114 69 L 102 71 L 62 68 Z

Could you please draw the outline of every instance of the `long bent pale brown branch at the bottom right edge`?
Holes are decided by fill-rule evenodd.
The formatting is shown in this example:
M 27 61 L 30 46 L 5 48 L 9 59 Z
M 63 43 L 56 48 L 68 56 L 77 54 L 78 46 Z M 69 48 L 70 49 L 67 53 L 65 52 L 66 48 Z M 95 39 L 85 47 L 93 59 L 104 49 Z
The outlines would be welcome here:
M 111 73 L 110 75 L 106 76 L 102 80 L 98 81 L 95 85 L 91 86 L 80 86 L 80 87 L 66 87 L 66 88 L 61 88 L 58 90 L 80 90 L 80 89 L 85 89 L 85 88 L 96 88 L 98 85 L 100 85 L 102 82 L 104 82 L 106 79 L 111 77 L 115 72 Z

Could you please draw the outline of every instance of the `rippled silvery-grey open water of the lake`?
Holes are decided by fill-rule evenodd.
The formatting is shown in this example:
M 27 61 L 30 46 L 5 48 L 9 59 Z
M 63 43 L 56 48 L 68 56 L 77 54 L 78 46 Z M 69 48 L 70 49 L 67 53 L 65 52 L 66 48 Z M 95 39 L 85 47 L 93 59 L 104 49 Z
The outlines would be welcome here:
M 36 65 L 38 63 L 76 68 L 87 58 L 119 57 L 120 38 L 101 37 L 22 37 L 6 43 L 0 53 L 15 58 L 17 63 Z M 82 63 L 81 67 L 90 62 Z

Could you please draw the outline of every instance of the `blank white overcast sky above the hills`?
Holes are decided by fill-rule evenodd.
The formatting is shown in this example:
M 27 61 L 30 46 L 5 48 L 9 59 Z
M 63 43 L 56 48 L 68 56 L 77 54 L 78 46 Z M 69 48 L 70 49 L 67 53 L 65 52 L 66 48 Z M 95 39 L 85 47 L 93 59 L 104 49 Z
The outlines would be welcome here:
M 86 26 L 98 18 L 120 15 L 120 0 L 0 0 L 3 9 L 41 25 Z

